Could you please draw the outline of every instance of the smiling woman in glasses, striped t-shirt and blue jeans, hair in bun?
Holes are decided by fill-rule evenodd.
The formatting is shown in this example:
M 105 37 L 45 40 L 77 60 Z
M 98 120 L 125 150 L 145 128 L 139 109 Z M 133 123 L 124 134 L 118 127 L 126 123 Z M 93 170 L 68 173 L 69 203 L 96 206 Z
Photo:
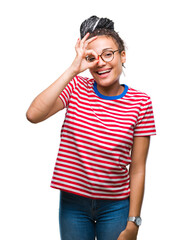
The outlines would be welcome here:
M 61 239 L 135 240 L 155 135 L 151 100 L 120 85 L 126 53 L 111 20 L 92 16 L 80 31 L 73 63 L 27 118 L 38 123 L 67 108 L 51 182 L 60 190 Z M 92 79 L 78 76 L 87 69 Z

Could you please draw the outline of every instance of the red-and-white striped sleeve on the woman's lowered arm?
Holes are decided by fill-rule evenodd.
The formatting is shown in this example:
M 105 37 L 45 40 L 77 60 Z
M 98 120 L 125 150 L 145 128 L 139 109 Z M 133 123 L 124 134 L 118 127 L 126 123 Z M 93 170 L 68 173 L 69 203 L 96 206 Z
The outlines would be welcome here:
M 152 101 L 150 97 L 143 101 L 134 128 L 134 136 L 156 135 Z

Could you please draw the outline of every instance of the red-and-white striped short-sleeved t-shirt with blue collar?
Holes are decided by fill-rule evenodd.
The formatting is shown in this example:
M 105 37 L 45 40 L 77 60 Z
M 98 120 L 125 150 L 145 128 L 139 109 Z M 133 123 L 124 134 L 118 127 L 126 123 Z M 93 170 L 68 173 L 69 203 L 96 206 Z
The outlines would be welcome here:
M 133 137 L 156 131 L 150 97 L 123 86 L 105 96 L 94 79 L 76 76 L 62 91 L 67 109 L 51 187 L 92 199 L 129 196 Z

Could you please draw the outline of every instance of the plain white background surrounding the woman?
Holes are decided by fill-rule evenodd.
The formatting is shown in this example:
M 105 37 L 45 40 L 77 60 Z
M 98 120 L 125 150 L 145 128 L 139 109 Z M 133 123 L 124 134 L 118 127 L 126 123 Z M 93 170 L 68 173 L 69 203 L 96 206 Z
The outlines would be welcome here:
M 138 239 L 180 238 L 180 1 L 6 0 L 0 3 L 2 240 L 60 239 L 59 191 L 50 182 L 65 112 L 37 125 L 25 113 L 33 98 L 69 67 L 80 23 L 91 15 L 115 22 L 127 45 L 121 82 L 153 101 L 157 136 L 147 160 Z

